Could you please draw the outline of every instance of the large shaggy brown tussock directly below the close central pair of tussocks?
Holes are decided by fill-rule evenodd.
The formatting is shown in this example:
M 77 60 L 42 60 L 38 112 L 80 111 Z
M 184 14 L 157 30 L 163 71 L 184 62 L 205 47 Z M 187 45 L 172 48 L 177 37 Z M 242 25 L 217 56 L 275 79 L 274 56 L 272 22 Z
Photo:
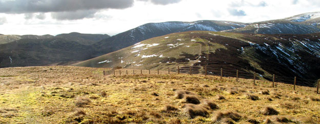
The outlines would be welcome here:
M 190 117 L 194 118 L 196 116 L 208 117 L 208 110 L 202 106 L 194 104 L 186 104 L 183 106 L 184 112 Z

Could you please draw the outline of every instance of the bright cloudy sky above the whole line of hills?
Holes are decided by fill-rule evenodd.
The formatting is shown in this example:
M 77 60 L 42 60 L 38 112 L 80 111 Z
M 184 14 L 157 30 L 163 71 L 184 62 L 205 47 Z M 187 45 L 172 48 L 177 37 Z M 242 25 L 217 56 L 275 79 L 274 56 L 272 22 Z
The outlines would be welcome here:
M 319 11 L 319 0 L 0 0 L 0 34 L 115 35 L 146 23 L 253 23 Z

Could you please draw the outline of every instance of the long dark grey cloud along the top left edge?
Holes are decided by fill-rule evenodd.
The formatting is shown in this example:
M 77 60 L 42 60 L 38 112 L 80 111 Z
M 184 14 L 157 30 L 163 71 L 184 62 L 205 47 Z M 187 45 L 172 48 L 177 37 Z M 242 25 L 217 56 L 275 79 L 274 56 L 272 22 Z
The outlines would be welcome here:
M 0 13 L 66 12 L 91 9 L 124 9 L 134 0 L 0 0 Z

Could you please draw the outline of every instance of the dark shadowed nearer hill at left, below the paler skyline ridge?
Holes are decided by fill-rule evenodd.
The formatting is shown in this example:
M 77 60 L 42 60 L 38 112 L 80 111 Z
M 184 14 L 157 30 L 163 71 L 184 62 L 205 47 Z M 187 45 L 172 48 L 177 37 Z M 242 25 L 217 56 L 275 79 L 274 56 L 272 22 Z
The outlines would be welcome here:
M 65 65 L 92 58 L 92 53 L 91 46 L 63 38 L 19 39 L 0 45 L 0 68 Z

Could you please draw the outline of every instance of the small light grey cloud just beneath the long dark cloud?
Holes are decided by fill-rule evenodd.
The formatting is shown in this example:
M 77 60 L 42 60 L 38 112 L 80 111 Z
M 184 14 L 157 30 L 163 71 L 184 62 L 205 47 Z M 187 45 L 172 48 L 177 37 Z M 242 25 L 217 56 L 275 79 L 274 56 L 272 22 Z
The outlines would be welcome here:
M 73 12 L 53 12 L 52 18 L 57 20 L 76 20 L 83 18 L 92 18 L 96 13 L 96 10 L 78 10 Z

